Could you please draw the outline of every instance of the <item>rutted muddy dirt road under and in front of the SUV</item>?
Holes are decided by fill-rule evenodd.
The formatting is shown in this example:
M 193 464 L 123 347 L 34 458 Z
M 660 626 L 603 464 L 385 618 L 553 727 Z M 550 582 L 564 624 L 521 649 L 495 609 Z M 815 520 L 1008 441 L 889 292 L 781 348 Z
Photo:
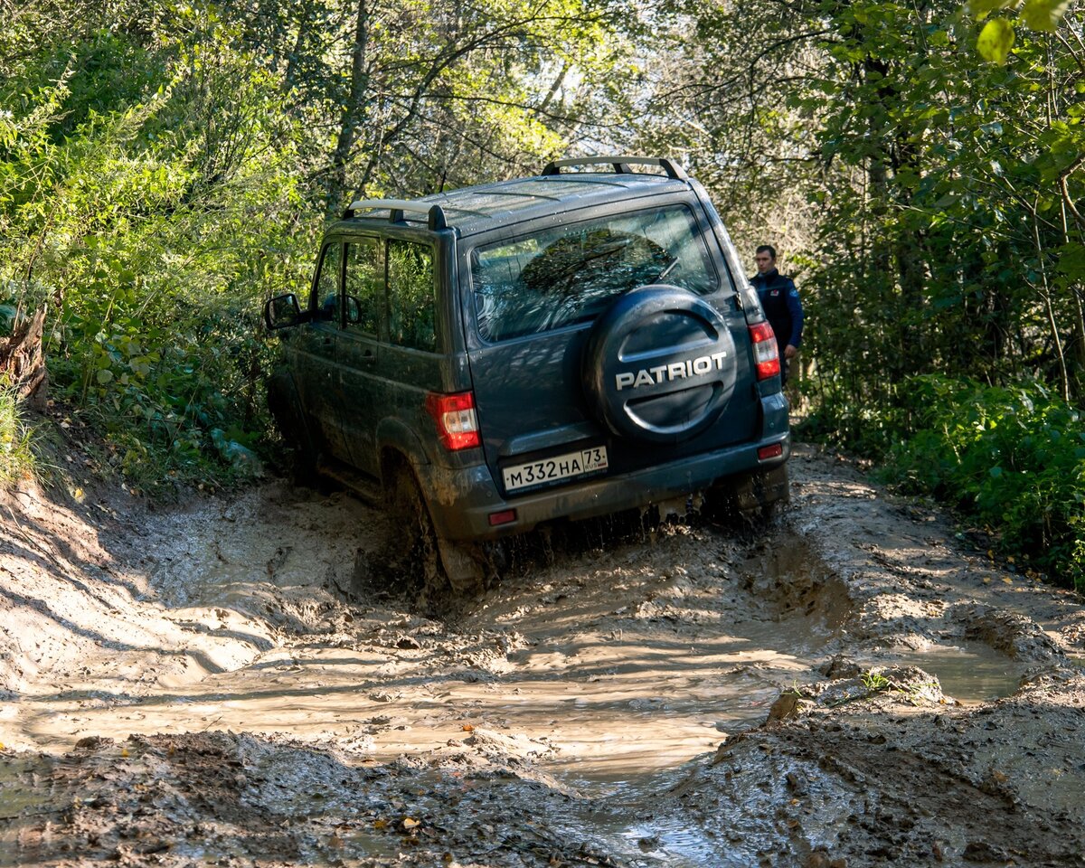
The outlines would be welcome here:
M 13 493 L 0 866 L 1085 865 L 1082 600 L 792 483 L 760 536 L 533 535 L 439 617 L 342 493 Z

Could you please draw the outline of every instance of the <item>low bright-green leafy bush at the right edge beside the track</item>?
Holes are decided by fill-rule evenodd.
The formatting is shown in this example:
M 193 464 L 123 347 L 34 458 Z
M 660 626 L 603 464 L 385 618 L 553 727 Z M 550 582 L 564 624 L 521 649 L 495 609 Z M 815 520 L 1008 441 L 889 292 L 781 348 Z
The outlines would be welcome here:
M 983 523 L 999 551 L 1085 590 L 1085 425 L 1037 382 L 907 381 L 910 420 L 883 474 Z

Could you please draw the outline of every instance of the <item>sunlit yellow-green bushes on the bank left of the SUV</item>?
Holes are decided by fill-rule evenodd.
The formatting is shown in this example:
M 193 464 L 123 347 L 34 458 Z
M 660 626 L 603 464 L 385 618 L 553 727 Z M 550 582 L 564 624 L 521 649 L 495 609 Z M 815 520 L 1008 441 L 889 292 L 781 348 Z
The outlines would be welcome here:
M 278 85 L 229 38 L 212 26 L 149 59 L 93 33 L 51 85 L 60 42 L 0 86 L 0 301 L 52 311 L 54 394 L 143 486 L 255 469 L 240 450 L 265 426 L 260 301 L 297 289 L 321 224 Z M 139 87 L 116 89 L 132 65 Z

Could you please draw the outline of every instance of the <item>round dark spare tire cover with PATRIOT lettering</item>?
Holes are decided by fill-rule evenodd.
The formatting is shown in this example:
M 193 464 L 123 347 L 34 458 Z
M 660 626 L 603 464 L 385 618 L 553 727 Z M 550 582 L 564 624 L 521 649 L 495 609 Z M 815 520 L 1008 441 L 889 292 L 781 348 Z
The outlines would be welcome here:
M 652 284 L 618 298 L 585 346 L 584 391 L 612 432 L 656 443 L 700 434 L 735 391 L 735 340 L 689 290 Z

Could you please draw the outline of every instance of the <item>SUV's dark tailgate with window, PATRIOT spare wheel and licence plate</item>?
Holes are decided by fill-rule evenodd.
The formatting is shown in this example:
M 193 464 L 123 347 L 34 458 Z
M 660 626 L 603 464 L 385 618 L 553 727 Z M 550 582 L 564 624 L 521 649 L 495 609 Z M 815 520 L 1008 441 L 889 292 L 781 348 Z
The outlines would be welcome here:
M 672 200 L 470 252 L 472 380 L 506 495 L 753 436 L 755 396 L 737 387 L 752 382 L 745 320 L 706 235 L 701 209 Z

